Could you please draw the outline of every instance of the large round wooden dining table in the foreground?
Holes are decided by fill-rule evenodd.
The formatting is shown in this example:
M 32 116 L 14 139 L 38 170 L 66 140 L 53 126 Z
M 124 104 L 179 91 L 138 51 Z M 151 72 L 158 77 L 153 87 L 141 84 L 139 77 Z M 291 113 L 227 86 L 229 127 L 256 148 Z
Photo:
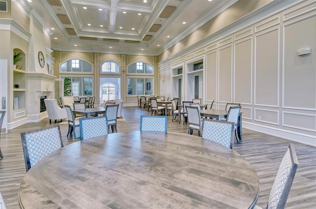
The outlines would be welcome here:
M 22 209 L 247 209 L 259 195 L 236 151 L 175 132 L 123 132 L 74 142 L 23 177 Z

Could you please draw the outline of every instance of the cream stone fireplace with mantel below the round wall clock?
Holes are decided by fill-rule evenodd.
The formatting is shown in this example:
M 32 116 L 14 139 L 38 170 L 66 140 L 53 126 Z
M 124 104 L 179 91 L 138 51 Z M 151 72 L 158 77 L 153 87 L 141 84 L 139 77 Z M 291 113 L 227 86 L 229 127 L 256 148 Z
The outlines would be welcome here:
M 54 98 L 54 81 L 56 77 L 49 74 L 27 73 L 27 115 L 28 122 L 39 122 L 47 117 L 42 108 L 44 98 Z

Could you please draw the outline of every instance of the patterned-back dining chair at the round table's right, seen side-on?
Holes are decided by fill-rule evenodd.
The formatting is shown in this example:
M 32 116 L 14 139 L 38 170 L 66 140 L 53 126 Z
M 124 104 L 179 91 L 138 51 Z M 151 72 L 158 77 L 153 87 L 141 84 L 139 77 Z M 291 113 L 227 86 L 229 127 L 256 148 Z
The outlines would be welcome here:
M 278 168 L 267 209 L 284 209 L 298 167 L 294 145 L 290 143 Z M 261 209 L 255 206 L 254 209 Z

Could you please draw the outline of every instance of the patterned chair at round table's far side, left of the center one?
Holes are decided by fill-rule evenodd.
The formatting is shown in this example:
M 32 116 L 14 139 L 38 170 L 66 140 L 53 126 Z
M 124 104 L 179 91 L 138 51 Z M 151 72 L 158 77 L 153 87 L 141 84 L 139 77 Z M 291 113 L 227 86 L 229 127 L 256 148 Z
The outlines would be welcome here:
M 80 139 L 90 139 L 109 134 L 107 116 L 80 118 Z

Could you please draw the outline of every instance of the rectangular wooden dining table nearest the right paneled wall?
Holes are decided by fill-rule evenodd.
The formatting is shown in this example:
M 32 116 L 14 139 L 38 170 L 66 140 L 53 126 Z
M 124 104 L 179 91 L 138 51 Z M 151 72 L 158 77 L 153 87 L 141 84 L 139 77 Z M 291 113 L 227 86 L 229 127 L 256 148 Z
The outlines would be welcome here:
M 228 111 L 223 109 L 203 109 L 200 111 L 201 116 L 219 120 L 227 116 Z M 237 135 L 242 140 L 242 112 L 239 112 L 237 120 Z

